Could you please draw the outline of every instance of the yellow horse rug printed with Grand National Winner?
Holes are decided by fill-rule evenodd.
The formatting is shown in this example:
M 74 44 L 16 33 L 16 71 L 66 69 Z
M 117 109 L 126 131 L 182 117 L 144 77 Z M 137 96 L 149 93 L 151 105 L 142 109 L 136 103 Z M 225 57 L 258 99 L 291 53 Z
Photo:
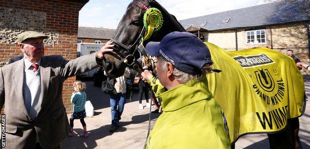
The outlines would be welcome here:
M 271 133 L 301 116 L 305 85 L 293 59 L 268 49 L 227 51 L 205 43 L 214 69 L 209 89 L 226 115 L 231 142 L 249 133 Z

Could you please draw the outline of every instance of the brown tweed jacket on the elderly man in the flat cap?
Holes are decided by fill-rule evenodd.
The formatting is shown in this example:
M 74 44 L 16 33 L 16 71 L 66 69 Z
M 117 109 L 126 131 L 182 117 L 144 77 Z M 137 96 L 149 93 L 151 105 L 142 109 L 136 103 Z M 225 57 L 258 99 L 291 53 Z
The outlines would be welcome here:
M 4 106 L 5 137 L 8 149 L 34 149 L 36 134 L 43 149 L 54 149 L 69 133 L 69 123 L 63 104 L 63 83 L 99 65 L 97 53 L 65 60 L 62 56 L 41 59 L 41 106 L 32 121 L 23 99 L 24 61 L 19 60 L 0 68 L 0 108 Z

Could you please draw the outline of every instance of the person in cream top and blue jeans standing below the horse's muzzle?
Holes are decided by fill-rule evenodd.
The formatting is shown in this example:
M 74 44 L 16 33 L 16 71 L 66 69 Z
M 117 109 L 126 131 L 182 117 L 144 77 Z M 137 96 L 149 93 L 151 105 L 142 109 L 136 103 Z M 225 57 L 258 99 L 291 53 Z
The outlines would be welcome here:
M 130 71 L 126 68 L 123 76 L 115 78 L 115 90 L 110 94 L 112 126 L 109 131 L 111 133 L 119 128 L 119 121 L 121 120 L 121 115 L 126 103 L 126 77 L 129 76 Z

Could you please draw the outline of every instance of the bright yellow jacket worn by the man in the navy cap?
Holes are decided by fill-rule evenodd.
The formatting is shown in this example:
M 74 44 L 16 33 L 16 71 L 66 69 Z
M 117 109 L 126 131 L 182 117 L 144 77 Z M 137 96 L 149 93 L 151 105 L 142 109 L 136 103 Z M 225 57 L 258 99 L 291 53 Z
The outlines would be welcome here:
M 162 100 L 163 113 L 145 149 L 230 148 L 221 107 L 209 91 L 205 76 L 165 92 L 158 80 L 149 83 Z

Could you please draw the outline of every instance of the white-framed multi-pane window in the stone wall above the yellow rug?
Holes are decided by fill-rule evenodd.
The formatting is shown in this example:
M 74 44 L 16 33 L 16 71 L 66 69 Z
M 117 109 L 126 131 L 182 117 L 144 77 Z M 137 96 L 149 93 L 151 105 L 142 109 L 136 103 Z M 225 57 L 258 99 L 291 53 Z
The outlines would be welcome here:
M 247 44 L 266 43 L 266 29 L 245 31 Z

